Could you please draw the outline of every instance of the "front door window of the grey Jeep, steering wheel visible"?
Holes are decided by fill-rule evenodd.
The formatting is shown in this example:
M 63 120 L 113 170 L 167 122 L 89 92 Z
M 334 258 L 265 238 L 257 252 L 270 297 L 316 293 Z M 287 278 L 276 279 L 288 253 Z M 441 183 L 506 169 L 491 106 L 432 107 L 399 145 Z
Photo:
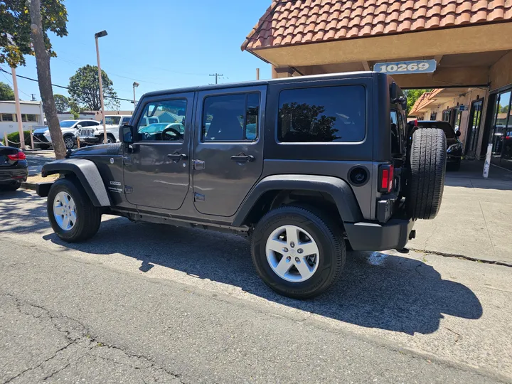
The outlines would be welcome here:
M 186 111 L 186 99 L 150 102 L 137 124 L 137 140 L 183 142 L 185 114 L 176 122 L 174 111 Z

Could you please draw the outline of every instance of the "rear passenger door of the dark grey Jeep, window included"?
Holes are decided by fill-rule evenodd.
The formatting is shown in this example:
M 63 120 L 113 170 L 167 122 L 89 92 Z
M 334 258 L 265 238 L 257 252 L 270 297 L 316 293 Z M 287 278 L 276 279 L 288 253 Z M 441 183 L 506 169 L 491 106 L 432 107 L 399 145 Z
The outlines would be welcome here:
M 194 206 L 231 216 L 260 178 L 266 87 L 199 92 L 194 132 Z

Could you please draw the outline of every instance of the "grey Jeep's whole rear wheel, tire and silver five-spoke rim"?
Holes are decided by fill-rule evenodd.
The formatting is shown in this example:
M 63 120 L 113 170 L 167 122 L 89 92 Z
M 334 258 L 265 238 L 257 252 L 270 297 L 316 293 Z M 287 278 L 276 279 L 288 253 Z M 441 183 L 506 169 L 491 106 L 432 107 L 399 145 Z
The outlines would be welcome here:
M 346 249 L 341 230 L 327 215 L 300 206 L 270 211 L 252 233 L 252 262 L 275 292 L 310 299 L 341 274 Z

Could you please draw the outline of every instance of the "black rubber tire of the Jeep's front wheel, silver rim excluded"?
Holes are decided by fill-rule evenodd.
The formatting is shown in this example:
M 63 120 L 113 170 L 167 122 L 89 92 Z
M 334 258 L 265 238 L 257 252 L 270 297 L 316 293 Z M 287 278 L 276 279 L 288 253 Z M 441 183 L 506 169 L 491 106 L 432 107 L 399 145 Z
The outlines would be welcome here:
M 68 193 L 75 201 L 76 223 L 70 230 L 60 228 L 53 215 L 53 203 L 59 192 Z M 53 231 L 65 242 L 85 241 L 94 236 L 101 223 L 101 209 L 92 205 L 84 188 L 75 179 L 59 178 L 48 193 L 48 218 Z

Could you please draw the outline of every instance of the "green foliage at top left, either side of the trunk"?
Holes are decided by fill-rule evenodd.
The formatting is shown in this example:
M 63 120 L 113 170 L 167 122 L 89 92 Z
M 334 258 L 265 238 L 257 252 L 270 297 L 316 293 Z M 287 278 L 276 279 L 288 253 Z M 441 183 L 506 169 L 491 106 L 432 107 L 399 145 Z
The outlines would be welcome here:
M 50 56 L 55 57 L 48 31 L 59 37 L 68 35 L 68 12 L 63 0 L 41 0 L 41 16 L 46 49 Z M 7 63 L 10 67 L 25 65 L 23 55 L 34 55 L 27 1 L 0 0 L 0 26 L 0 64 Z

